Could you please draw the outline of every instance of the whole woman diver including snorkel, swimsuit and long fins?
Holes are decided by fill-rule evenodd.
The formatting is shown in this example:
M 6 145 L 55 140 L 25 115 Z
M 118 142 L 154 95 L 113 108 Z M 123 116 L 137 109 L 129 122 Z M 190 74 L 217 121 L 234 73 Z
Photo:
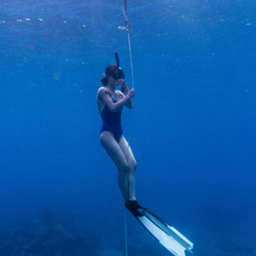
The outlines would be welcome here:
M 135 90 L 128 89 L 124 80 L 125 75 L 119 67 L 118 55 L 116 54 L 115 57 L 117 66 L 110 65 L 106 68 L 106 77 L 101 79 L 104 87 L 101 87 L 97 93 L 97 106 L 102 115 L 100 141 L 118 167 L 119 188 L 125 198 L 125 207 L 166 249 L 175 255 L 185 256 L 186 249 L 192 253 L 193 243 L 154 213 L 141 207 L 136 200 L 135 172 L 137 163 L 131 148 L 128 148 L 121 127 L 122 109 L 124 106 L 133 108 Z M 121 86 L 125 95 L 121 91 L 115 90 L 118 85 Z

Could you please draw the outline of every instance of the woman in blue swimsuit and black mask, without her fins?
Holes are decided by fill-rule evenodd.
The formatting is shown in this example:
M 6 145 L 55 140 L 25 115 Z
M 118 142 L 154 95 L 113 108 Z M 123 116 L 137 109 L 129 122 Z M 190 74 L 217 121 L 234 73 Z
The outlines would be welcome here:
M 122 109 L 124 106 L 133 108 L 132 98 L 135 96 L 135 90 L 128 89 L 124 80 L 125 75 L 119 67 L 119 61 L 118 66 L 108 66 L 105 74 L 106 77 L 101 79 L 104 87 L 101 87 L 97 93 L 97 107 L 102 115 L 100 142 L 119 170 L 119 188 L 125 201 L 136 201 L 135 172 L 137 163 L 130 147 L 128 150 L 128 143 L 123 136 L 121 127 Z M 121 91 L 115 90 L 119 85 L 125 95 Z

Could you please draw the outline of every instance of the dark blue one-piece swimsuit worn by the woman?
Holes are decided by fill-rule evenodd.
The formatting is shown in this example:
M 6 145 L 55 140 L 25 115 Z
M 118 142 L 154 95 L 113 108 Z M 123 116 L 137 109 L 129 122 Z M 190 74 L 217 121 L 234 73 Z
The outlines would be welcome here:
M 111 97 L 113 103 L 116 103 L 117 101 L 114 99 L 113 95 L 108 91 L 105 90 L 106 94 L 109 94 Z M 119 92 L 118 92 L 119 93 Z M 119 93 L 119 98 L 122 99 L 123 96 Z M 122 113 L 122 108 L 120 108 L 116 112 L 111 112 L 111 110 L 104 105 L 102 108 L 102 132 L 109 132 L 113 135 L 114 139 L 119 143 L 120 137 L 122 137 L 123 130 L 121 126 L 121 113 Z

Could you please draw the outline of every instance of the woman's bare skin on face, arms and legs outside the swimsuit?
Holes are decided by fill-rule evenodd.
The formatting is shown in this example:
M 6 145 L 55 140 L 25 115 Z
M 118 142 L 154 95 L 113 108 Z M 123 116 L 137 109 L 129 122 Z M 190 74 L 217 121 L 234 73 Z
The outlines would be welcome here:
M 99 112 L 101 113 L 104 105 L 106 105 L 112 112 L 118 111 L 123 106 L 133 108 L 132 98 L 135 96 L 135 90 L 129 90 L 125 80 L 123 79 L 115 80 L 112 76 L 107 76 L 107 79 L 108 84 L 105 87 L 101 87 L 97 93 L 97 106 Z M 120 91 L 118 93 L 115 90 L 118 85 L 120 85 L 125 92 L 125 96 L 123 95 L 124 97 L 121 100 L 119 99 L 119 93 L 122 93 Z M 106 90 L 113 95 L 117 102 L 113 103 L 110 96 L 105 93 Z M 103 132 L 100 136 L 100 142 L 119 170 L 119 189 L 121 190 L 125 201 L 136 200 L 135 179 L 137 162 L 130 147 L 128 150 L 128 143 L 126 142 L 125 137 L 122 136 L 118 143 L 111 133 Z

